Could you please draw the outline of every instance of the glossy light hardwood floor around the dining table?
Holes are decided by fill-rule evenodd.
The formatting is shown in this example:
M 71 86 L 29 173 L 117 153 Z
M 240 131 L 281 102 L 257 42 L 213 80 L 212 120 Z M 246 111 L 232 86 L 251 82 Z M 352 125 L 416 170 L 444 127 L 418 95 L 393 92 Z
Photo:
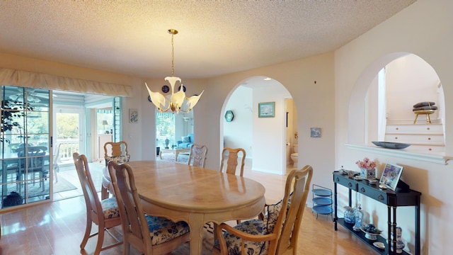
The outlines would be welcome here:
M 247 165 L 247 164 L 246 164 Z M 263 183 L 266 199 L 273 203 L 282 198 L 286 176 L 263 174 L 244 169 L 244 176 Z M 80 242 L 86 225 L 86 209 L 83 196 L 36 205 L 23 210 L 0 215 L 0 254 L 93 254 L 96 237 L 80 250 Z M 93 226 L 93 232 L 97 227 Z M 115 232 L 115 230 L 114 230 Z M 116 234 L 119 234 L 120 228 Z M 105 244 L 114 242 L 105 238 Z M 188 254 L 188 244 L 171 254 Z M 122 254 L 122 246 L 102 251 L 101 254 Z M 132 249 L 132 254 L 137 254 Z M 208 245 L 203 254 L 212 254 Z M 316 215 L 306 208 L 298 240 L 297 254 L 377 254 L 338 226 L 334 231 L 330 215 Z

